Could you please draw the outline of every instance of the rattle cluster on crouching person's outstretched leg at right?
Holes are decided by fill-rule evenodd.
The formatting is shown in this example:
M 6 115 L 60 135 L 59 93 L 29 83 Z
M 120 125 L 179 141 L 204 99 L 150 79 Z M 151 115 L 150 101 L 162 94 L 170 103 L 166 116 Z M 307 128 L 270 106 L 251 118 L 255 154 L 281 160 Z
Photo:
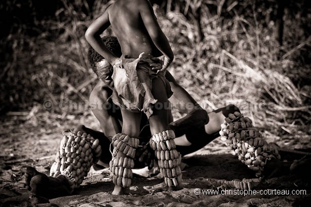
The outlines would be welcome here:
M 262 178 L 267 160 L 280 159 L 276 146 L 268 144 L 252 126 L 252 121 L 240 112 L 229 114 L 221 128 L 221 140 L 226 142 L 233 155 L 238 155 L 249 169 L 256 171 L 257 177 Z

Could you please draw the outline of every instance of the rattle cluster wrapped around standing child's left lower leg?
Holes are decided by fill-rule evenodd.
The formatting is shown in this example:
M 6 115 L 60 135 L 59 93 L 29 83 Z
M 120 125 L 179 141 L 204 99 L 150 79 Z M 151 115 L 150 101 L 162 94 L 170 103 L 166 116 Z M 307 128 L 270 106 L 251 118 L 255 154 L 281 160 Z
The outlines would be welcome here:
M 131 138 L 126 134 L 117 133 L 112 138 L 113 152 L 109 163 L 112 181 L 115 185 L 129 187 L 131 184 L 132 168 L 139 139 Z M 122 156 L 117 155 L 122 152 Z

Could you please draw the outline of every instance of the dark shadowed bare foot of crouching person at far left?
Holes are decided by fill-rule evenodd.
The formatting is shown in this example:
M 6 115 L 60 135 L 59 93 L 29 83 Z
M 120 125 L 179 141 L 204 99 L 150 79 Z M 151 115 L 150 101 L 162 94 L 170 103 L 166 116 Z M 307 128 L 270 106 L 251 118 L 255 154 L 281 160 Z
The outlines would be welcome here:
M 26 188 L 37 196 L 51 199 L 71 195 L 69 181 L 64 176 L 48 177 L 33 167 L 27 167 L 25 178 Z

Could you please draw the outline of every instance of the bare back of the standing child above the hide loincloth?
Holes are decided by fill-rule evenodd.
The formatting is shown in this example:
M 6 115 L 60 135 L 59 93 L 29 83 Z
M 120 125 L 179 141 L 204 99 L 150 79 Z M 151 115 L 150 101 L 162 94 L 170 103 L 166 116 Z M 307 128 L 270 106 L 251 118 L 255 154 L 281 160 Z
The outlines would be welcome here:
M 109 21 L 122 50 L 122 57 L 138 58 L 145 52 L 153 57 L 163 54 L 153 44 L 142 22 L 139 2 L 145 0 L 117 0 L 108 8 Z

